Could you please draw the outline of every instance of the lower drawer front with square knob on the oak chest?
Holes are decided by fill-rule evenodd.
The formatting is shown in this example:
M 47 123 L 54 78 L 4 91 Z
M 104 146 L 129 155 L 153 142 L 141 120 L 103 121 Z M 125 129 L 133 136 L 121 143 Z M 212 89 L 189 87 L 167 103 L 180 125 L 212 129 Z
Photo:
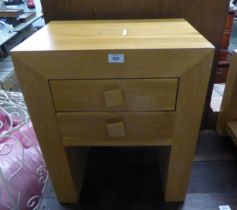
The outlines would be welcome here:
M 174 112 L 57 113 L 65 146 L 171 145 Z

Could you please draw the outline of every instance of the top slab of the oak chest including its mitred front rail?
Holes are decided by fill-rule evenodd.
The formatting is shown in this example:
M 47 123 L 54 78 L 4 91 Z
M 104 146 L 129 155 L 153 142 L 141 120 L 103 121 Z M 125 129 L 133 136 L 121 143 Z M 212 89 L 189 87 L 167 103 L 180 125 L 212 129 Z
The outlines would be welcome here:
M 67 30 L 61 30 L 65 25 L 68 25 Z M 81 32 L 85 25 L 89 25 L 89 32 Z M 136 29 L 131 38 L 122 35 L 117 38 L 115 33 L 108 38 L 101 35 L 104 33 L 103 25 L 109 25 L 109 30 L 112 31 L 113 28 L 122 27 L 129 31 L 140 26 L 141 30 L 139 32 Z M 145 33 L 144 30 L 148 32 Z M 174 34 L 174 30 L 175 35 L 167 40 L 166 37 Z M 94 38 L 90 39 L 88 34 L 93 31 Z M 144 35 L 141 36 L 140 33 Z M 147 37 L 150 35 L 154 40 L 149 44 L 147 42 L 150 42 L 150 37 Z M 65 40 L 65 37 L 70 39 Z M 21 59 L 27 59 L 27 64 L 46 79 L 119 79 L 180 77 L 205 57 L 211 48 L 213 46 L 182 19 L 55 21 L 14 48 L 14 52 L 20 52 Z M 108 55 L 111 53 L 123 54 L 125 62 L 108 63 Z M 46 60 L 50 62 L 45 62 Z

